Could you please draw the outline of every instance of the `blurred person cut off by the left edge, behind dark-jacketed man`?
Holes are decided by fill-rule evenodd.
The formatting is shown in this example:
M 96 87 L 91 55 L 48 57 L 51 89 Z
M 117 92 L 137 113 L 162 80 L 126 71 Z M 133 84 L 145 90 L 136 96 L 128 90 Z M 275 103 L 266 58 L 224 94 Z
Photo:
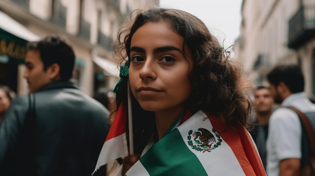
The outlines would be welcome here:
M 0 121 L 14 98 L 15 93 L 9 86 L 0 85 Z

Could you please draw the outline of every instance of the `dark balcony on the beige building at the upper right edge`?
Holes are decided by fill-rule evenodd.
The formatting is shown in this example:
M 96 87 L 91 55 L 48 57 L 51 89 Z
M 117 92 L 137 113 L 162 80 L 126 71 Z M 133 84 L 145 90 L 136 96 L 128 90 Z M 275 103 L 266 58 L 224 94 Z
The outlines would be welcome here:
M 289 20 L 288 47 L 297 49 L 315 37 L 315 5 L 301 7 Z

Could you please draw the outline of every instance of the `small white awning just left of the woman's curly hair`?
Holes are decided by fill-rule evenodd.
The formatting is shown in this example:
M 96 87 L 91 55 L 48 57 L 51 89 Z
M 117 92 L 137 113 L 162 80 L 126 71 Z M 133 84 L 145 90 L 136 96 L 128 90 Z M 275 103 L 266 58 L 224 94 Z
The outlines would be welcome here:
M 93 61 L 100 66 L 107 75 L 119 77 L 119 69 L 116 63 L 95 54 L 92 54 L 92 58 Z

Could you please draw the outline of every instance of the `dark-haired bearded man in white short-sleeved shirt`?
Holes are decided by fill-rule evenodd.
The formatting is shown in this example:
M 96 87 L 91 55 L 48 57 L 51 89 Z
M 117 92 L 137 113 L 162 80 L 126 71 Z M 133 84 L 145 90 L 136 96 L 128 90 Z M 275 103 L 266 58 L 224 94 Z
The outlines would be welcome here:
M 267 138 L 267 175 L 298 175 L 301 168 L 301 122 L 297 113 L 285 108 L 293 106 L 301 112 L 315 111 L 306 97 L 304 77 L 297 65 L 276 66 L 267 74 L 276 109 L 269 120 Z

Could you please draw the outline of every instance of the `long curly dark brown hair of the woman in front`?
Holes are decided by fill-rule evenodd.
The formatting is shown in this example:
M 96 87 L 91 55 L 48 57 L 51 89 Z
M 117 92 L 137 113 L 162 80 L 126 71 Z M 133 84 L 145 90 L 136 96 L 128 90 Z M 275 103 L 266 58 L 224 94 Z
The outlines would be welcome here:
M 230 59 L 230 52 L 224 50 L 200 19 L 181 10 L 164 8 L 137 10 L 131 17 L 131 24 L 120 29 L 118 41 L 113 47 L 120 64 L 130 58 L 131 38 L 139 27 L 148 22 L 167 22 L 184 38 L 183 51 L 184 45 L 187 45 L 192 53 L 193 69 L 188 75 L 192 92 L 186 107 L 192 112 L 203 110 L 221 117 L 226 127 L 234 126 L 238 121 L 247 127 L 252 104 L 249 96 L 252 83 L 244 78 L 242 64 Z M 126 80 L 116 94 L 116 101 L 117 107 L 121 102 L 127 102 Z M 134 98 L 133 102 L 134 120 L 143 117 L 143 114 L 146 117 L 153 116 L 151 112 L 144 111 Z M 148 126 L 149 122 L 143 122 L 148 119 L 138 120 Z

